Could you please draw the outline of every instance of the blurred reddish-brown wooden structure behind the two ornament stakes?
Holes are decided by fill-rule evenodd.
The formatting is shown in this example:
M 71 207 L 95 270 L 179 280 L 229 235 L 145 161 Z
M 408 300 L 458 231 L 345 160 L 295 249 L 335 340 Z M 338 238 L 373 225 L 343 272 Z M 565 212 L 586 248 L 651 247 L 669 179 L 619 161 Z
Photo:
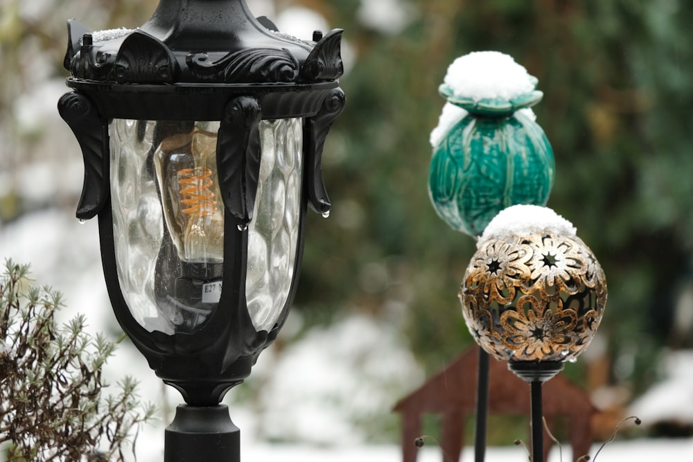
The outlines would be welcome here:
M 402 414 L 403 461 L 415 462 L 416 438 L 421 436 L 423 414 L 441 415 L 444 462 L 457 462 L 464 446 L 466 416 L 475 414 L 478 365 L 477 348 L 470 348 L 419 389 L 400 400 L 394 411 Z M 489 414 L 524 414 L 529 423 L 529 384 L 491 358 L 489 370 Z M 543 415 L 549 428 L 558 416 L 568 417 L 572 460 L 588 453 L 593 441 L 590 420 L 599 412 L 587 396 L 562 375 L 543 384 Z M 511 441 L 509 441 L 511 443 Z M 544 460 L 552 441 L 544 435 Z

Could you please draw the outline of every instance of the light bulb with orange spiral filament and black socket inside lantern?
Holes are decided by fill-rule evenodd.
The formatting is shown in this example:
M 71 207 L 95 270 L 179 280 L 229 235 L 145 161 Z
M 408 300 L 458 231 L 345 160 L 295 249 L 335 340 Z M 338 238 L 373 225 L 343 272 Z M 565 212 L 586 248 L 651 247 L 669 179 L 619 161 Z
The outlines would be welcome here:
M 159 309 L 179 332 L 198 327 L 221 294 L 224 208 L 216 142 L 216 132 L 195 125 L 166 136 L 154 155 L 166 225 L 155 285 Z

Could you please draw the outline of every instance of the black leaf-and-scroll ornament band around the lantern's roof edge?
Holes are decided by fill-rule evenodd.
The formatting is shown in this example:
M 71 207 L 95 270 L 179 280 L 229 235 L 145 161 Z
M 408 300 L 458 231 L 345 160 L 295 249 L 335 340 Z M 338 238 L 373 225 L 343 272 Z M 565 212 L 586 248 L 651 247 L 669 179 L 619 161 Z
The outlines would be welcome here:
M 229 44 L 231 51 L 225 54 L 194 48 L 186 52 L 141 29 L 112 37 L 103 34 L 107 31 L 91 33 L 75 19 L 68 28 L 64 65 L 73 77 L 85 80 L 297 84 L 336 80 L 344 73 L 341 29 L 332 30 L 314 45 L 267 31 L 265 44 L 242 48 Z

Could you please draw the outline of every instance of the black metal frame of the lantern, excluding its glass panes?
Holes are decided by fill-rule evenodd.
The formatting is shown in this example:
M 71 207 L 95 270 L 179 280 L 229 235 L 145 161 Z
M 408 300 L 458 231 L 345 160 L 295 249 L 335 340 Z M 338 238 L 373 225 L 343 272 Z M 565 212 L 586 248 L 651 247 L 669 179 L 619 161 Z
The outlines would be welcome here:
M 160 0 L 136 30 L 91 33 L 71 19 L 68 31 L 64 65 L 73 91 L 60 98 L 58 109 L 85 161 L 76 215 L 80 220 L 98 215 L 103 271 L 116 319 L 155 373 L 187 403 L 167 429 L 165 460 L 188 460 L 179 455 L 184 453 L 200 456 L 201 445 L 217 446 L 204 452 L 209 460 L 224 458 L 229 446 L 237 454 L 238 429 L 218 404 L 249 375 L 286 321 L 299 278 L 307 207 L 323 214 L 331 207 L 322 179 L 322 151 L 346 102 L 338 82 L 344 72 L 342 30 L 324 36 L 315 32 L 312 41 L 304 41 L 279 33 L 265 17 L 254 18 L 245 0 Z M 125 302 L 116 269 L 109 186 L 108 127 L 120 118 L 220 121 L 216 162 L 225 224 L 218 306 L 223 309 L 213 310 L 193 333 L 150 332 Z M 258 125 L 283 118 L 303 119 L 298 242 L 279 319 L 269 331 L 258 331 L 245 300 L 247 225 L 262 156 Z M 169 441 L 169 432 L 198 436 Z M 224 434 L 223 441 L 210 436 L 214 433 Z

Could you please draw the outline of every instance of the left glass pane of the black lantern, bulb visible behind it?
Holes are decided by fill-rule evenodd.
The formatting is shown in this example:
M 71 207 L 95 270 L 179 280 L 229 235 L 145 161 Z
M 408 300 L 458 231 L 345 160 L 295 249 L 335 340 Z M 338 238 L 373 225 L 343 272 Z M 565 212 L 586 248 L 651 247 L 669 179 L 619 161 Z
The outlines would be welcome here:
M 194 332 L 218 304 L 218 126 L 125 119 L 109 125 L 116 269 L 125 302 L 146 330 Z

